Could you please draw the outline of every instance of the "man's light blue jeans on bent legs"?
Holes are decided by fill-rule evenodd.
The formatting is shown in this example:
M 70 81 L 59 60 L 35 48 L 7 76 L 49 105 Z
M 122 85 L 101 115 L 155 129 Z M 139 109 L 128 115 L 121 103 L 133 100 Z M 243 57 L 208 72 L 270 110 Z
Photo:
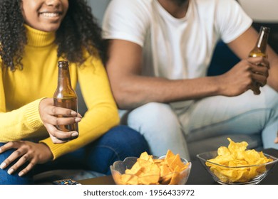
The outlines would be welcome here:
M 237 97 L 206 97 L 189 108 L 173 109 L 169 104 L 151 102 L 123 114 L 123 123 L 139 131 L 153 155 L 171 149 L 190 159 L 187 142 L 221 134 L 262 134 L 264 148 L 276 148 L 278 93 L 269 86 L 260 95 L 251 90 Z

